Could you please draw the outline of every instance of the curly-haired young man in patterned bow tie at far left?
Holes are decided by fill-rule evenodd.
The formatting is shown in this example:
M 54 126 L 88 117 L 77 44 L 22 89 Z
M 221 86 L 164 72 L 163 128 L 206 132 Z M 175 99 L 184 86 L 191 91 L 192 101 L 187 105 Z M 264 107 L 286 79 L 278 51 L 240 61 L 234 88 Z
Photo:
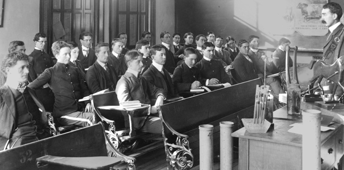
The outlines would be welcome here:
M 1 71 L 7 78 L 0 87 L 0 151 L 51 136 L 43 104 L 26 86 L 28 59 L 14 52 L 2 61 Z

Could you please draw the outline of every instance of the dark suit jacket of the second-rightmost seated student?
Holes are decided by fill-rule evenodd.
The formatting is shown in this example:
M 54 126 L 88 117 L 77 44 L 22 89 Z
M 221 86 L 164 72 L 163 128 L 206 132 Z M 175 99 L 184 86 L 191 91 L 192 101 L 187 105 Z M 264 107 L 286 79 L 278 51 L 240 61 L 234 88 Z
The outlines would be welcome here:
M 253 65 L 255 66 L 255 71 L 257 74 L 264 75 L 264 65 L 265 65 L 266 66 L 265 76 L 271 75 L 272 74 L 271 72 L 274 70 L 273 62 L 267 61 L 267 63 L 265 64 L 265 61 L 261 59 L 261 54 L 262 52 L 260 50 L 258 50 L 257 53 L 254 53 L 251 49 L 249 51 L 249 57 L 253 61 Z

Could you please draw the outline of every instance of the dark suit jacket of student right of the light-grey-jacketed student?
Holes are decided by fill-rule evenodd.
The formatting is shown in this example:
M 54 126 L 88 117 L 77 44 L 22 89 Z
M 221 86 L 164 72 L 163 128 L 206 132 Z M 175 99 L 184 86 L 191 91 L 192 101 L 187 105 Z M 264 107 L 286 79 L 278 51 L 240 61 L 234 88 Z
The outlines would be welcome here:
M 167 82 L 164 79 L 164 75 L 158 71 L 153 65 L 151 65 L 147 71 L 143 73 L 143 77 L 145 80 L 150 83 L 150 85 L 155 86 L 154 88 L 158 88 L 163 91 L 163 95 L 169 99 L 172 97 L 177 97 L 176 89 L 173 86 L 171 76 L 169 72 L 164 68 L 164 74 L 167 78 Z M 155 100 L 156 96 L 150 94 L 150 100 Z

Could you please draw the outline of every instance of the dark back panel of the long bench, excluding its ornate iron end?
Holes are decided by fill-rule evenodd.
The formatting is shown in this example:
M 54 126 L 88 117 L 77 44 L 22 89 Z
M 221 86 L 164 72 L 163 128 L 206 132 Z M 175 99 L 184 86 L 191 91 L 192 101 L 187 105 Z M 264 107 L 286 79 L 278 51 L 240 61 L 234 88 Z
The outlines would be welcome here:
M 175 131 L 183 134 L 254 105 L 256 85 L 262 85 L 261 79 L 163 105 L 162 117 Z

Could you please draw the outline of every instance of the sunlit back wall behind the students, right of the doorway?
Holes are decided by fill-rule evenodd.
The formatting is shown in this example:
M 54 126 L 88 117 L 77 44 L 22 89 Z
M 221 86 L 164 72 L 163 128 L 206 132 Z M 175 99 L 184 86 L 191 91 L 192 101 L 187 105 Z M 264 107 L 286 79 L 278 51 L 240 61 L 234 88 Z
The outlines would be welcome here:
M 328 1 L 337 2 L 344 7 L 343 0 Z M 297 32 L 290 34 L 287 28 L 284 30 L 285 34 L 271 33 L 281 26 L 277 20 L 269 18 L 276 15 L 274 11 L 283 10 L 284 5 L 294 6 L 297 1 L 175 0 L 175 31 L 181 34 L 191 31 L 196 36 L 206 35 L 211 30 L 215 32 L 215 36 L 220 35 L 224 39 L 231 35 L 237 42 L 247 39 L 249 35 L 257 35 L 260 37 L 260 47 L 269 49 L 276 48 L 279 39 L 287 37 L 291 40 L 291 46 L 298 46 L 300 49 L 298 62 L 309 63 L 312 56 L 322 54 L 322 47 L 329 33 L 324 36 L 302 36 Z

